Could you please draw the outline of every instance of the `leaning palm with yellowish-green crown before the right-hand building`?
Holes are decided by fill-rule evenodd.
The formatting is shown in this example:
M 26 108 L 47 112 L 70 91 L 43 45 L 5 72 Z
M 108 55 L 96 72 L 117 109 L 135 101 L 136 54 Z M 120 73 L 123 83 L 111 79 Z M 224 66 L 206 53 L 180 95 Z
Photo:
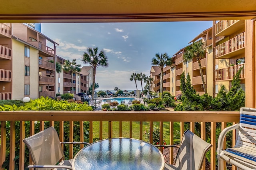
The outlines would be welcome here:
M 204 57 L 204 48 L 203 48 L 204 43 L 202 41 L 197 41 L 193 43 L 192 45 L 188 46 L 185 50 L 184 53 L 184 59 L 186 61 L 192 60 L 193 58 L 196 59 L 198 62 L 199 70 L 200 70 L 200 75 L 202 78 L 202 83 L 203 83 L 203 88 L 204 88 L 204 93 L 206 94 L 206 86 L 204 82 L 204 74 L 202 70 L 202 65 L 201 65 L 201 59 Z

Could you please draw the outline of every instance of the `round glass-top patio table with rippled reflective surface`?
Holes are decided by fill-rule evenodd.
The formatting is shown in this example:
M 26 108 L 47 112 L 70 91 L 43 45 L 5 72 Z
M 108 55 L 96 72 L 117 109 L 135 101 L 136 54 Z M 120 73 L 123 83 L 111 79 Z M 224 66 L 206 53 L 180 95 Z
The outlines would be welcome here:
M 164 156 L 150 143 L 132 138 L 94 142 L 74 157 L 74 170 L 162 170 Z

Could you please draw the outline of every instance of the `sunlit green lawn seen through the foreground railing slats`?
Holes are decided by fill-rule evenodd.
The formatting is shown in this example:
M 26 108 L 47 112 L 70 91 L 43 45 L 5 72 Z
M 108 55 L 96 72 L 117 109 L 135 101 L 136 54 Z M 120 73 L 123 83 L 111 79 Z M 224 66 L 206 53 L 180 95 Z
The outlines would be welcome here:
M 159 122 L 154 122 L 153 124 L 159 126 Z M 149 122 L 143 122 L 142 129 L 143 129 L 143 134 L 144 131 L 146 130 L 146 127 L 149 128 Z M 108 121 L 104 121 L 102 123 L 102 137 L 103 139 L 108 138 Z M 122 137 L 129 137 L 129 128 L 130 127 L 130 122 L 123 121 L 122 122 Z M 166 142 L 166 145 L 170 144 L 170 122 L 164 122 L 164 136 L 165 139 L 164 141 Z M 94 121 L 93 122 L 93 138 L 99 138 L 99 131 L 100 131 L 100 125 L 99 121 Z M 114 137 L 119 137 L 119 122 L 114 121 L 113 122 L 113 138 Z M 135 139 L 140 139 L 140 122 L 132 122 L 132 138 Z M 146 141 L 145 137 L 143 136 L 143 140 Z

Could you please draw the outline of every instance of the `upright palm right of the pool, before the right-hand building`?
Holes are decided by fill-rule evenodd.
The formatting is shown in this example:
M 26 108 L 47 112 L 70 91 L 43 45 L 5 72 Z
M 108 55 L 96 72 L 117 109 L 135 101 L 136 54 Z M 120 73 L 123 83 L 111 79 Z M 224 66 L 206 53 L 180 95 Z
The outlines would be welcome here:
M 152 59 L 152 65 L 159 66 L 161 68 L 161 75 L 160 75 L 160 93 L 163 94 L 163 77 L 164 77 L 164 66 L 170 66 L 172 65 L 171 58 L 167 55 L 167 53 L 164 53 L 161 55 L 159 53 L 156 53 L 156 56 Z M 163 95 L 161 95 L 163 98 Z

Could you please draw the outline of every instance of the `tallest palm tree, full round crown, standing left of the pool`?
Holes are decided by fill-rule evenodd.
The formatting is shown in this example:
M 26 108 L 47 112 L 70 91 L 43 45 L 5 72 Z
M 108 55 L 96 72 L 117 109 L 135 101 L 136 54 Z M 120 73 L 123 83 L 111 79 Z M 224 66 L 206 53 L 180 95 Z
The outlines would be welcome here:
M 108 67 L 108 57 L 105 54 L 104 50 L 98 51 L 98 47 L 91 48 L 89 47 L 87 51 L 84 52 L 82 61 L 84 64 L 90 64 L 93 68 L 93 84 L 92 91 L 95 90 L 95 76 L 96 76 L 96 68 L 98 66 Z M 94 95 L 92 95 L 92 100 Z

